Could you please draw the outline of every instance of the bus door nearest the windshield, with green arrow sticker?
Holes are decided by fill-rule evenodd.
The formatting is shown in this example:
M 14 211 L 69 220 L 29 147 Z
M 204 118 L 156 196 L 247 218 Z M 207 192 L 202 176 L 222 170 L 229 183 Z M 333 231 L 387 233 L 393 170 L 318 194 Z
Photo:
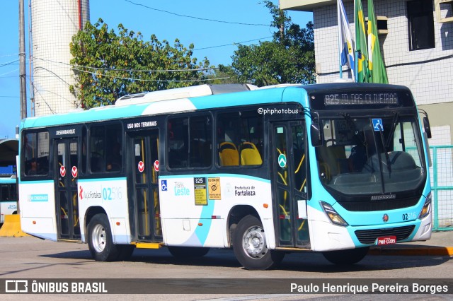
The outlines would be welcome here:
M 308 248 L 305 125 L 302 121 L 274 122 L 271 129 L 277 246 Z

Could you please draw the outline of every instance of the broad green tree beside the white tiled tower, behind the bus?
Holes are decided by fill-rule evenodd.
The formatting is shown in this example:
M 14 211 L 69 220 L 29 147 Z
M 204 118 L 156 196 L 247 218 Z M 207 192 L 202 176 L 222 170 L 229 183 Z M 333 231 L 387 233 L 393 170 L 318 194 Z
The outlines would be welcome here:
M 175 40 L 172 47 L 155 35 L 145 42 L 122 24 L 116 34 L 101 18 L 86 23 L 69 47 L 76 77 L 69 89 L 88 108 L 113 104 L 127 94 L 200 84 L 209 75 L 200 69 L 210 62 L 197 63 L 193 44 L 186 48 Z

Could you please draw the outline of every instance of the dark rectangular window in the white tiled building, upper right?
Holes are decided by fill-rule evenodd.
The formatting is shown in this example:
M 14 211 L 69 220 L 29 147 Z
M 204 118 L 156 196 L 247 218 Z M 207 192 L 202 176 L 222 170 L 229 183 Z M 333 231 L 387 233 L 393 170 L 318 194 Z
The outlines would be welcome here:
M 435 47 L 432 0 L 408 1 L 409 49 Z

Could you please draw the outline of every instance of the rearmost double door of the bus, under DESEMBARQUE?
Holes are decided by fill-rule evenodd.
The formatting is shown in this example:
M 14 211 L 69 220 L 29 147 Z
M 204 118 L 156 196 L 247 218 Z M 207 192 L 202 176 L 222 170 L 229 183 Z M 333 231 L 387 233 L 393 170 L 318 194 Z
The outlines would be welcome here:
M 79 223 L 79 177 L 77 138 L 55 140 L 55 206 L 59 240 L 81 240 Z

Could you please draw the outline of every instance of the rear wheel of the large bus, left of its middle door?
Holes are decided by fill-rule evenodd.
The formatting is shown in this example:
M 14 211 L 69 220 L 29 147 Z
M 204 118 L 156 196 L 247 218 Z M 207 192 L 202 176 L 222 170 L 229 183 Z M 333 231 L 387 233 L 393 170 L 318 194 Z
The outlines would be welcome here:
M 115 261 L 120 248 L 113 244 L 112 230 L 105 214 L 96 214 L 88 223 L 88 248 L 96 261 Z

